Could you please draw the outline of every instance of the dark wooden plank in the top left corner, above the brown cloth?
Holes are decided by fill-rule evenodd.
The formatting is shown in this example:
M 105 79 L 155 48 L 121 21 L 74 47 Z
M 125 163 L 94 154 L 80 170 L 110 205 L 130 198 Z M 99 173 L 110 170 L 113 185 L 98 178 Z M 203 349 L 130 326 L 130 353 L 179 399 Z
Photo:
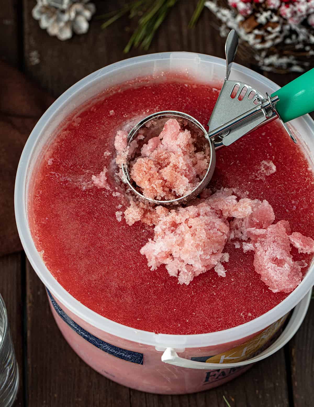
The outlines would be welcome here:
M 22 42 L 21 3 L 19 0 L 6 0 L 0 7 L 0 58 L 19 66 Z

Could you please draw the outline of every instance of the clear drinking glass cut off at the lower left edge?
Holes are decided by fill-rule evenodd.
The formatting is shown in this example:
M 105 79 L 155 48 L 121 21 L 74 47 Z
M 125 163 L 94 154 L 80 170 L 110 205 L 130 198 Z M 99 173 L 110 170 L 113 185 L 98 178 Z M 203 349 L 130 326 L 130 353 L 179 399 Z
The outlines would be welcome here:
M 8 315 L 0 295 L 0 406 L 10 407 L 19 387 L 17 367 Z

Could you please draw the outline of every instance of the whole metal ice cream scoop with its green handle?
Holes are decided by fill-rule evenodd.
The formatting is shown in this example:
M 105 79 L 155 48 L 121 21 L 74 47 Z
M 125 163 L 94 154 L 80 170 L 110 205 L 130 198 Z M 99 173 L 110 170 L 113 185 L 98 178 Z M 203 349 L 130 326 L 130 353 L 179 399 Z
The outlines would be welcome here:
M 226 56 L 226 75 L 223 87 L 219 93 L 217 102 L 214 106 L 210 120 L 208 121 L 209 130 L 198 120 L 183 112 L 165 111 L 156 112 L 141 120 L 128 134 L 128 145 L 139 135 L 139 130 L 143 129 L 150 120 L 163 120 L 175 118 L 178 121 L 187 120 L 190 126 L 197 127 L 204 140 L 208 143 L 210 149 L 210 158 L 208 160 L 208 169 L 204 178 L 191 193 L 171 199 L 161 201 L 145 197 L 134 182 L 129 173 L 128 162 L 122 165 L 124 181 L 129 188 L 141 199 L 145 199 L 158 205 L 177 205 L 184 204 L 189 199 L 196 197 L 207 186 L 210 181 L 216 164 L 215 149 L 223 146 L 229 146 L 239 138 L 245 136 L 251 131 L 269 123 L 277 118 L 281 121 L 288 135 L 296 143 L 296 140 L 285 124 L 303 114 L 314 110 L 314 68 L 299 78 L 288 83 L 283 88 L 273 92 L 271 95 L 266 93 L 266 97 L 251 85 L 229 80 L 232 62 L 234 61 L 236 50 L 238 48 L 238 35 L 235 30 L 230 31 L 225 43 Z

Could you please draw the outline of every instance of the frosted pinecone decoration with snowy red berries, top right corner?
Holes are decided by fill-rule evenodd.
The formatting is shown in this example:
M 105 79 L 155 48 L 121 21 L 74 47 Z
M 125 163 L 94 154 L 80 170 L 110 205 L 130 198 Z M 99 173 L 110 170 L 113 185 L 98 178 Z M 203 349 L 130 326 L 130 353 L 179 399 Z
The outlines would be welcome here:
M 303 72 L 314 55 L 314 0 L 211 0 L 206 7 L 239 36 L 242 56 L 266 71 Z

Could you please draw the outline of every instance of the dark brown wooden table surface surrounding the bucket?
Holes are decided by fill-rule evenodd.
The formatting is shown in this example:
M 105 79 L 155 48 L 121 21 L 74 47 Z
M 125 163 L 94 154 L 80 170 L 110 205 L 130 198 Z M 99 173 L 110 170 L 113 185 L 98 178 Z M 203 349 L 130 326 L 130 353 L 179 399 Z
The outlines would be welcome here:
M 197 0 L 180 0 L 156 35 L 150 53 L 195 51 L 224 57 L 217 21 L 206 9 L 194 30 L 187 24 Z M 35 0 L 4 0 L 0 7 L 0 56 L 53 96 L 110 63 L 141 55 L 122 50 L 128 18 L 102 31 L 61 42 L 31 16 Z M 95 1 L 97 14 L 123 1 Z M 238 62 L 241 62 L 239 59 Z M 248 66 L 247 63 L 245 65 Z M 249 66 L 250 67 L 250 66 Z M 279 85 L 293 74 L 264 73 Z M 0 291 L 6 302 L 21 385 L 15 406 L 24 407 L 310 407 L 314 405 L 314 300 L 295 337 L 279 352 L 223 387 L 186 396 L 160 396 L 123 387 L 96 373 L 69 347 L 48 307 L 43 284 L 23 252 L 0 258 Z

